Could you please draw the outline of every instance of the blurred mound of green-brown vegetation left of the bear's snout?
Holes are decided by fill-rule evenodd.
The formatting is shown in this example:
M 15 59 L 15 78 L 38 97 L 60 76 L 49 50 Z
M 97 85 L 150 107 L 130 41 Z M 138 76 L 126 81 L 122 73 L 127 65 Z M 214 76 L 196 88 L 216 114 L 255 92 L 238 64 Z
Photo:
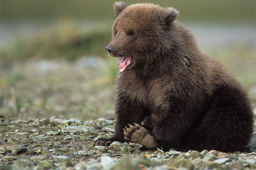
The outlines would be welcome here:
M 111 40 L 111 24 L 106 25 L 90 23 L 82 30 L 71 19 L 57 21 L 53 29 L 29 37 L 16 37 L 8 46 L 3 46 L 1 60 L 22 62 L 37 57 L 74 61 L 84 55 L 105 56 L 105 46 Z

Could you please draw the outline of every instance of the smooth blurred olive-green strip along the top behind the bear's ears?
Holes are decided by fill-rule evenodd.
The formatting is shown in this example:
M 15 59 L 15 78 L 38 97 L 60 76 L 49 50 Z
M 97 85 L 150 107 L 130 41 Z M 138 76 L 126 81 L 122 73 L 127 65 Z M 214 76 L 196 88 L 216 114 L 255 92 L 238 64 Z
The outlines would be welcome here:
M 73 17 L 83 20 L 114 19 L 115 0 L 1 0 L 1 17 L 51 18 Z M 163 7 L 174 7 L 181 18 L 187 20 L 222 20 L 223 22 L 254 22 L 255 1 L 205 1 L 205 0 L 129 0 L 133 3 L 155 3 Z M 222 16 L 220 18 L 220 16 Z

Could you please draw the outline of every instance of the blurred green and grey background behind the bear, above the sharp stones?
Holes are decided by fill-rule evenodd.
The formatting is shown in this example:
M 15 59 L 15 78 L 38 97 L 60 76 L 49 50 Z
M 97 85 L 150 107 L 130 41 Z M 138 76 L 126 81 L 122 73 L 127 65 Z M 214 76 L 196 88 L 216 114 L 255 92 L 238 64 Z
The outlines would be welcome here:
M 112 0 L 1 0 L 1 117 L 113 117 Z M 124 1 L 174 7 L 200 48 L 225 64 L 255 109 L 255 1 Z M 254 110 L 255 111 L 255 110 Z

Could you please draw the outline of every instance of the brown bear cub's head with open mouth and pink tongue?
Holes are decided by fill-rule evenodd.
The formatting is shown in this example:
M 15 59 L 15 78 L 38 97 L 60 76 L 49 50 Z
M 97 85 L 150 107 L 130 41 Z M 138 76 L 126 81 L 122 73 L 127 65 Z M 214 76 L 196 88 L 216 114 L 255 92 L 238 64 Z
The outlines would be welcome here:
M 112 57 L 119 57 L 120 71 L 143 68 L 159 51 L 165 49 L 168 32 L 179 12 L 153 4 L 123 2 L 114 4 L 116 16 L 112 41 L 106 50 Z

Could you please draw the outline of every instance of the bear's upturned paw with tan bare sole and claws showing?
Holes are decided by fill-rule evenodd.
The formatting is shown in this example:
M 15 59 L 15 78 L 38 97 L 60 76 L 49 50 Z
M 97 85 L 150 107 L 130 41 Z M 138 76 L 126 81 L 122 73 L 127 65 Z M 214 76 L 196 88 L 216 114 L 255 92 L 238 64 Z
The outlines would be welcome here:
M 123 135 L 126 141 L 139 143 L 146 148 L 154 148 L 157 146 L 153 136 L 149 134 L 149 131 L 139 124 L 129 124 L 129 127 L 125 127 L 123 131 Z

